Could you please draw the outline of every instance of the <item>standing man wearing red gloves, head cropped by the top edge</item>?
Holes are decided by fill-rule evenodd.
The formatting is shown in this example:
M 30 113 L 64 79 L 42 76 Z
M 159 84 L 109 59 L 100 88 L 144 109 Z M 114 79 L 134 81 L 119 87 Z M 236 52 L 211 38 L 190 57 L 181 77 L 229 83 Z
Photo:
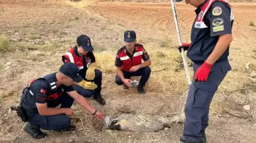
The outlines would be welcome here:
M 176 0 L 182 1 L 182 0 Z M 228 61 L 234 14 L 226 0 L 185 0 L 197 7 L 191 43 L 179 47 L 193 61 L 193 82 L 185 107 L 181 142 L 205 143 L 209 106 L 218 86 L 231 70 Z

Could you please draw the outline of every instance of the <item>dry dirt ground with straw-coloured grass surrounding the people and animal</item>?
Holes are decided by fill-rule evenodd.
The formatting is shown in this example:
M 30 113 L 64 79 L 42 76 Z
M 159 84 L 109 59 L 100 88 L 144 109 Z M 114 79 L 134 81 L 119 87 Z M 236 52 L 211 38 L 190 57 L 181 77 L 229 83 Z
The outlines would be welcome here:
M 88 99 L 92 106 L 106 115 L 128 105 L 139 115 L 174 117 L 179 110 L 179 98 L 187 90 L 187 80 L 181 55 L 174 48 L 178 42 L 172 8 L 170 3 L 136 2 L 141 1 L 0 1 L 0 36 L 10 47 L 0 53 L 0 142 L 179 142 L 182 123 L 174 123 L 170 129 L 159 132 L 110 131 L 103 129 L 102 123 L 77 104 L 72 108 L 83 125 L 77 123 L 77 130 L 73 132 L 46 131 L 47 138 L 34 140 L 22 131 L 24 123 L 16 113 L 9 113 L 10 105 L 18 103 L 22 88 L 32 78 L 57 71 L 61 55 L 75 45 L 79 34 L 87 34 L 102 67 L 102 93 L 107 103 L 100 106 Z M 249 74 L 256 70 L 256 26 L 250 26 L 256 22 L 256 3 L 232 5 L 235 15 L 229 56 L 232 71 L 220 85 L 210 106 L 207 137 L 208 142 L 253 143 L 255 90 L 248 94 L 250 119 L 234 117 L 223 108 L 224 89 L 235 90 L 253 84 Z M 178 3 L 176 7 L 182 40 L 190 42 L 194 8 L 185 3 Z M 152 57 L 152 75 L 143 96 L 135 89 L 124 91 L 114 82 L 115 53 L 123 45 L 123 32 L 128 29 L 137 32 L 138 42 L 145 45 Z M 247 63 L 249 69 L 245 69 Z M 191 67 L 189 70 L 191 72 Z M 245 99 L 239 96 L 236 100 Z

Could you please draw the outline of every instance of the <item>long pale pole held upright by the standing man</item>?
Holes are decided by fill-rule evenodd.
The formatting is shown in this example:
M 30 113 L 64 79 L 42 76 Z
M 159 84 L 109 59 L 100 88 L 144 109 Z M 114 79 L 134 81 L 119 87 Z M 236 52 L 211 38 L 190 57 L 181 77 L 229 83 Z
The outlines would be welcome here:
M 177 21 L 176 5 L 174 3 L 174 0 L 170 0 L 170 1 L 172 3 L 172 12 L 174 14 L 174 21 L 175 21 L 175 26 L 176 26 L 177 38 L 179 40 L 179 45 L 181 45 L 182 44 L 182 40 L 181 40 L 181 34 L 179 32 L 179 23 Z M 186 72 L 186 75 L 187 75 L 187 82 L 188 82 L 188 84 L 190 86 L 191 85 L 191 80 L 190 80 L 189 68 L 187 66 L 187 60 L 185 58 L 185 52 L 184 52 L 183 48 L 181 48 L 181 54 L 182 54 L 182 59 L 183 59 L 183 65 L 184 65 L 185 72 Z

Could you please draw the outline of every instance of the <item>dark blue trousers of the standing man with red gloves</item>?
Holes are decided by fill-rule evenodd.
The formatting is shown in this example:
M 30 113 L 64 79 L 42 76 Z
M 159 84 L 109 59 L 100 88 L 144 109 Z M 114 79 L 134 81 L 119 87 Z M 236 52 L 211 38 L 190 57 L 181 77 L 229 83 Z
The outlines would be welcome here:
M 202 132 L 208 127 L 208 114 L 212 98 L 218 86 L 231 70 L 228 61 L 215 63 L 206 82 L 195 82 L 195 72 L 201 65 L 194 63 L 193 82 L 189 88 L 185 106 L 185 125 L 183 136 L 186 142 L 199 142 Z

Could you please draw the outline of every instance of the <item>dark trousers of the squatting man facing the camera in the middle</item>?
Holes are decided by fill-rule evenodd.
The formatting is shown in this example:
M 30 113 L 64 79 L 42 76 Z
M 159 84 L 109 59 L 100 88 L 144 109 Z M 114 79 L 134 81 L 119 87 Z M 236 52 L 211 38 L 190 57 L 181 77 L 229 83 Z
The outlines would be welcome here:
M 131 76 L 141 76 L 141 79 L 139 81 L 139 86 L 144 86 L 146 84 L 146 82 L 148 81 L 150 72 L 151 72 L 150 67 L 144 67 L 142 69 L 139 69 L 136 72 L 123 71 L 123 76 L 127 79 L 128 78 L 131 79 Z M 121 78 L 119 78 L 118 75 L 115 76 L 115 83 L 120 86 L 123 85 L 123 81 L 121 80 Z

